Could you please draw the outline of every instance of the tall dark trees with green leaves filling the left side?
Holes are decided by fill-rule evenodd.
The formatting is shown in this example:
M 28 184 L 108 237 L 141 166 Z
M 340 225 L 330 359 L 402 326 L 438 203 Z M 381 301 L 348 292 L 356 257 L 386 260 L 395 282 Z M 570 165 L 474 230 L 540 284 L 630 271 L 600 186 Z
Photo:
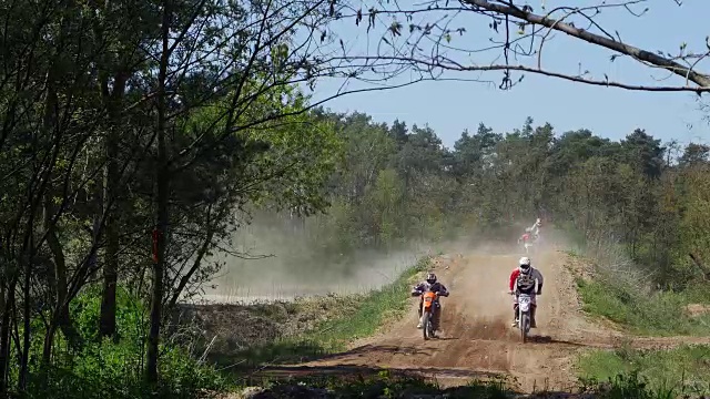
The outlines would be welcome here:
M 298 44 L 297 32 L 320 29 L 328 6 L 36 6 L 2 8 L 0 81 L 24 78 L 0 86 L 0 313 L 12 314 L 0 351 L 22 354 L 20 365 L 0 359 L 0 396 L 27 391 L 30 377 L 53 369 L 138 380 L 146 347 L 156 379 L 163 320 L 146 328 L 143 310 L 134 311 L 114 331 L 128 315 L 112 310 L 123 300 L 112 287 L 128 287 L 136 308 L 173 307 L 219 270 L 212 255 L 230 247 L 253 207 L 297 215 L 327 207 L 339 141 L 294 83 L 322 72 L 320 50 Z M 169 34 L 170 45 L 155 45 Z M 165 270 L 162 283 L 146 278 L 153 231 L 163 238 L 154 266 Z M 97 277 L 105 288 L 77 298 Z

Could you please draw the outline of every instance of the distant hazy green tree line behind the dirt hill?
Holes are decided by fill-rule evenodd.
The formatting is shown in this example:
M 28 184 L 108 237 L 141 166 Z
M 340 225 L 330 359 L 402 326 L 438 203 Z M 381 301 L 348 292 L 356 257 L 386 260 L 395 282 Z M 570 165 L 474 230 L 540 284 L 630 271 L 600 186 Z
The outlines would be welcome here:
M 643 129 L 611 141 L 528 117 L 513 132 L 480 123 L 447 149 L 428 126 L 325 117 L 345 156 L 329 181 L 327 215 L 311 223 L 329 226 L 316 241 L 333 252 L 491 232 L 515 241 L 541 217 L 595 250 L 623 250 L 662 288 L 702 277 L 708 145 L 661 143 Z

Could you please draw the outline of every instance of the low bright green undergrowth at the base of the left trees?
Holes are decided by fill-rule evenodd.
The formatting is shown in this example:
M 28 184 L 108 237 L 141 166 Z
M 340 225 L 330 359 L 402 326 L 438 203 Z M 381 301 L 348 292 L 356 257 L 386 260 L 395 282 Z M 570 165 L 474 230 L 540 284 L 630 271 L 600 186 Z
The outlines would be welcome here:
M 62 351 L 55 345 L 55 360 L 37 366 L 26 398 L 194 398 L 205 389 L 220 390 L 226 380 L 214 369 L 197 362 L 183 348 L 162 345 L 161 381 L 153 387 L 143 376 L 146 310 L 125 289 L 118 290 L 116 339 L 99 339 L 100 289 L 90 287 L 72 304 L 72 316 L 84 342 L 80 352 Z M 41 345 L 41 342 L 38 342 Z M 120 381 L 120 383 L 116 383 Z

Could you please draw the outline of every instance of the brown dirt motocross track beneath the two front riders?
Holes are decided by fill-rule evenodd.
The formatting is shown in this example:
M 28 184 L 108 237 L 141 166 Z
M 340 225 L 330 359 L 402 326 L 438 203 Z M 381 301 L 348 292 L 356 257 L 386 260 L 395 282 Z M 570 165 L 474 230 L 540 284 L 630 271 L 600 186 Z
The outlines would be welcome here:
M 442 385 L 460 385 L 471 378 L 513 377 L 523 391 L 568 391 L 577 380 L 572 365 L 586 348 L 613 348 L 628 342 L 637 348 L 671 347 L 681 342 L 708 342 L 707 338 L 635 338 L 595 325 L 579 311 L 574 279 L 565 267 L 567 256 L 545 252 L 531 256 L 545 275 L 538 297 L 538 328 L 531 342 L 520 344 L 510 327 L 511 297 L 508 276 L 519 254 L 490 250 L 464 254 L 462 262 L 438 267 L 439 279 L 452 291 L 443 299 L 439 339 L 425 341 L 416 329 L 416 299 L 407 317 L 385 332 L 353 344 L 352 349 L 300 366 L 270 367 L 261 375 L 352 374 L 387 368 L 417 372 Z

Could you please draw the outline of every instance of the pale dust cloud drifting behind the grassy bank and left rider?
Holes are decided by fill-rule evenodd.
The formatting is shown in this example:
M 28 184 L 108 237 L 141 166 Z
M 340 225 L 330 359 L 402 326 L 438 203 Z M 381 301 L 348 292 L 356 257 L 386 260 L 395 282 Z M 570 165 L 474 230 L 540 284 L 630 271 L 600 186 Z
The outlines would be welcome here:
M 468 232 L 444 243 L 410 242 L 396 250 L 358 250 L 348 256 L 318 247 L 323 241 L 333 239 L 324 237 L 326 233 L 317 219 L 294 224 L 283 217 L 255 217 L 233 237 L 233 247 L 245 255 L 221 253 L 212 259 L 222 262 L 223 268 L 206 285 L 201 299 L 230 304 L 347 295 L 392 283 L 425 255 L 473 250 L 520 254 L 513 235 L 504 238 Z

